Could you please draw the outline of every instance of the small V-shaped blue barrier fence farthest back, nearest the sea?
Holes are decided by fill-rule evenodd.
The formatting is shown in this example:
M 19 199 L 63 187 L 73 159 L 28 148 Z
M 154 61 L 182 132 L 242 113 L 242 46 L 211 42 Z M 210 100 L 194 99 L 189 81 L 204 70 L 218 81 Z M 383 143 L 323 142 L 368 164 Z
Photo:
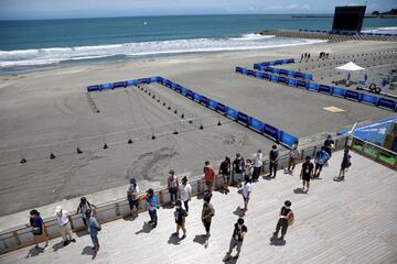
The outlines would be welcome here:
M 271 61 L 271 62 L 265 62 L 265 63 L 256 63 L 256 64 L 254 64 L 254 69 L 258 69 L 258 70 L 261 70 L 265 73 L 278 74 L 278 75 L 286 76 L 286 77 L 288 76 L 288 77 L 293 77 L 293 78 L 300 78 L 303 80 L 312 80 L 313 79 L 312 74 L 271 67 L 271 66 L 276 66 L 276 65 L 293 64 L 293 63 L 294 63 L 293 58 L 278 59 L 278 61 Z

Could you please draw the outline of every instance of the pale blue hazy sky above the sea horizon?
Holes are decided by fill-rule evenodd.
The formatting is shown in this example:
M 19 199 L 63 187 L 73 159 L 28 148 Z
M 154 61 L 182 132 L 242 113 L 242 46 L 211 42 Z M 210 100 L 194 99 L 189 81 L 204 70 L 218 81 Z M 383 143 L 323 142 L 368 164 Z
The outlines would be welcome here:
M 365 0 L 0 0 L 0 20 L 144 16 L 170 14 L 333 13 Z M 397 8 L 368 0 L 367 12 Z

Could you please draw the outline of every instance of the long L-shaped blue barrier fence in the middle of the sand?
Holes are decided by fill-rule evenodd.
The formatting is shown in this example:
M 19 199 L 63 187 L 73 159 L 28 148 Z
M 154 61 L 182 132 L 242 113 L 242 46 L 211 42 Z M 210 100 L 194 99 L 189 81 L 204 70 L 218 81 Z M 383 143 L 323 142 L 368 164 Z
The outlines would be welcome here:
M 243 70 L 243 68 L 242 68 Z M 251 75 L 253 77 L 256 77 L 257 73 L 251 69 L 244 69 L 245 75 Z M 261 74 L 261 73 L 258 73 Z M 159 82 L 165 87 L 169 87 L 170 89 L 173 89 L 176 92 L 180 92 L 181 95 L 185 96 L 186 98 L 203 105 L 216 112 L 219 112 L 224 114 L 225 117 L 235 120 L 242 124 L 245 124 L 246 127 L 250 128 L 251 130 L 255 130 L 276 142 L 279 142 L 286 146 L 291 146 L 294 141 L 298 141 L 299 139 L 290 133 L 287 133 L 286 131 L 279 130 L 276 127 L 272 127 L 271 124 L 265 123 L 256 118 L 253 118 L 242 111 L 238 111 L 236 109 L 230 108 L 229 106 L 226 106 L 222 102 L 218 102 L 216 100 L 210 99 L 203 95 L 200 95 L 191 89 L 187 89 L 172 80 L 165 79 L 163 77 L 157 76 L 157 77 L 149 77 L 149 78 L 141 78 L 141 79 L 131 79 L 131 80 L 125 80 L 125 81 L 117 81 L 117 82 L 108 82 L 108 84 L 100 84 L 100 85 L 92 85 L 87 86 L 87 91 L 103 91 L 108 89 L 115 89 L 115 88 L 126 88 L 128 86 L 137 86 L 139 84 L 150 84 L 150 82 Z

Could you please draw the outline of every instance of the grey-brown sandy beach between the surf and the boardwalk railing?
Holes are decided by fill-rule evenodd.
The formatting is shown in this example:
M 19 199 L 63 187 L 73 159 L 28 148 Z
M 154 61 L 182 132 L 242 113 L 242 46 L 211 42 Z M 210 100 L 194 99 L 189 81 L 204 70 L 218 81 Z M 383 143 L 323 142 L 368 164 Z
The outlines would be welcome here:
M 245 157 L 261 148 L 268 153 L 273 142 L 240 124 L 194 103 L 159 85 L 150 85 L 168 105 L 186 118 L 202 119 L 204 130 L 194 124 L 183 133 L 159 135 L 151 140 L 152 130 L 146 129 L 132 144 L 115 144 L 103 150 L 104 142 L 93 141 L 77 155 L 74 145 L 63 147 L 34 147 L 25 153 L 7 153 L 11 148 L 28 148 L 55 142 L 100 136 L 139 128 L 158 125 L 157 134 L 172 132 L 169 123 L 178 123 L 179 114 L 167 109 L 137 88 L 93 94 L 100 113 L 93 111 L 86 97 L 86 86 L 148 76 L 164 76 L 184 87 L 232 106 L 238 110 L 296 134 L 304 144 L 323 139 L 328 133 L 355 122 L 394 116 L 394 112 L 320 94 L 240 76 L 235 66 L 253 67 L 256 62 L 278 58 L 300 58 L 302 53 L 318 56 L 330 54 L 366 53 L 395 48 L 393 42 L 321 43 L 283 48 L 247 52 L 184 54 L 168 57 L 149 57 L 124 63 L 98 64 L 55 68 L 44 72 L 0 76 L 0 216 L 42 207 L 44 217 L 53 207 L 44 206 L 72 200 L 74 209 L 82 195 L 118 188 L 112 198 L 122 198 L 127 179 L 135 177 L 147 188 L 165 183 L 167 173 L 174 168 L 178 175 L 196 176 L 204 161 L 217 166 L 225 155 L 240 152 Z M 298 67 L 298 66 L 291 66 Z M 314 79 L 321 75 L 316 70 Z M 324 111 L 334 106 L 341 113 Z M 187 114 L 189 113 L 189 114 Z M 222 125 L 216 125 L 218 121 Z M 164 124 L 161 127 L 161 124 Z M 167 125 L 165 125 L 167 124 Z M 112 139 L 114 140 L 114 139 Z M 125 141 L 126 139 L 119 139 Z M 281 150 L 285 150 L 279 145 Z M 50 153 L 57 157 L 50 160 Z M 66 151 L 65 151 L 66 153 Z M 20 164 L 21 155 L 36 158 Z M 11 157 L 12 156 L 12 157 Z M 6 161 L 6 163 L 4 163 Z M 122 187 L 120 187 L 122 186 Z M 106 199 L 109 196 L 105 197 Z M 95 202 L 101 202 L 97 196 Z M 71 209 L 72 209 L 71 208 Z M 24 213 L 24 215 L 23 215 Z M 0 229 L 18 224 L 0 218 Z M 11 217 L 11 216 L 9 216 Z M 11 219 L 11 218 L 8 218 Z

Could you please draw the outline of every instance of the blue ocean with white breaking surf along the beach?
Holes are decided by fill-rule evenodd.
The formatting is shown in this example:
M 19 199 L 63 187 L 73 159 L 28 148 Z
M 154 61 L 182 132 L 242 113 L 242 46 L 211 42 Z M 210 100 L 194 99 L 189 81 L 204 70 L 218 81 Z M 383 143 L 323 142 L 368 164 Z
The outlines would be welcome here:
M 0 74 L 142 56 L 310 44 L 316 41 L 256 33 L 331 26 L 332 18 L 287 14 L 0 21 Z M 376 32 L 396 26 L 397 19 L 364 19 L 363 28 Z

